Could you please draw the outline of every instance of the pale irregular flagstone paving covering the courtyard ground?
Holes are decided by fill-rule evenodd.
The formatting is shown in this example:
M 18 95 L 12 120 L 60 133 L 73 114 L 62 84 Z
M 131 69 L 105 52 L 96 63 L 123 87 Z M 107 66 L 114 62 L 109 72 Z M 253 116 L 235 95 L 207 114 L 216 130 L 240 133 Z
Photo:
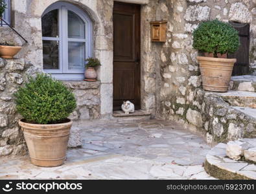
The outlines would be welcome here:
M 33 166 L 29 156 L 0 158 L 0 179 L 213 179 L 202 166 L 211 147 L 174 122 L 75 125 L 82 147 L 69 149 L 64 165 Z

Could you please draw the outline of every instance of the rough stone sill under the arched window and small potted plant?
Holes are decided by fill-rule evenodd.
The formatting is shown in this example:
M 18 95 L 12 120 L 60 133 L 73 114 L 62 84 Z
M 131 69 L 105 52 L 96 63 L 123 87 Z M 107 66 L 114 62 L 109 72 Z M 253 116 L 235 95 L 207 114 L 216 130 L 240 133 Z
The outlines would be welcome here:
M 71 89 L 98 89 L 100 86 L 100 81 L 73 81 L 67 80 L 63 81 L 64 84 Z

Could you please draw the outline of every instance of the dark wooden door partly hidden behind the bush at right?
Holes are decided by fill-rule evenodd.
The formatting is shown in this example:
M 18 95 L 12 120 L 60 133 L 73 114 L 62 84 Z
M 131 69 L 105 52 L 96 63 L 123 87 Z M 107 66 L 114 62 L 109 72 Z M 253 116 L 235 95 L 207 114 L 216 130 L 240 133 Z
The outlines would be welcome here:
M 237 52 L 228 54 L 228 58 L 237 58 L 232 76 L 242 76 L 249 73 L 250 54 L 250 25 L 244 23 L 229 22 L 238 32 L 240 47 Z

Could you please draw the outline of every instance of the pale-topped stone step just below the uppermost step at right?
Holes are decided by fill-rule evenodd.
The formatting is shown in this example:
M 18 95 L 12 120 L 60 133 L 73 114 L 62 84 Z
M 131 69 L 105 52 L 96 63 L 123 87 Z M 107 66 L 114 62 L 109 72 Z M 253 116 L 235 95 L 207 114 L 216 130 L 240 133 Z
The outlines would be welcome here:
M 234 107 L 250 107 L 256 109 L 256 92 L 228 91 L 216 93 Z

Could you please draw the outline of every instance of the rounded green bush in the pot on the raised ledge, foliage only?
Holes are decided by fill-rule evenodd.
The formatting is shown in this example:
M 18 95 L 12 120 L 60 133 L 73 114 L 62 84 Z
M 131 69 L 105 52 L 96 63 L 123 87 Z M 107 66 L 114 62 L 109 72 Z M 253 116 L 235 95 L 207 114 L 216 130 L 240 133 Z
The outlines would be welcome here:
M 236 52 L 239 48 L 239 34 L 229 23 L 213 20 L 200 23 L 193 32 L 193 47 L 202 52 L 217 54 Z

